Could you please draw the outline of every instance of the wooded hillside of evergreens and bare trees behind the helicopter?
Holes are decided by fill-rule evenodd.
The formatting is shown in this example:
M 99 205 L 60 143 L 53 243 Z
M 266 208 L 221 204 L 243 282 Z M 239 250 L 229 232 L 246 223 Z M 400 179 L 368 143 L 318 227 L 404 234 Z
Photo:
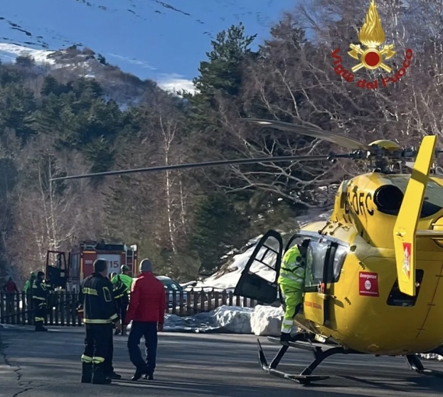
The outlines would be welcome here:
M 364 171 L 348 160 L 276 162 L 49 182 L 117 169 L 346 151 L 241 118 L 294 122 L 366 143 L 383 138 L 414 146 L 426 134 L 442 135 L 442 10 L 425 0 L 378 0 L 386 42 L 397 51 L 386 60 L 393 72 L 361 69 L 349 82 L 336 73 L 331 54 L 340 48 L 346 70 L 358 63 L 347 53 L 358 44 L 368 1 L 304 4 L 283 14 L 266 41 L 248 36 L 242 23 L 218 33 L 193 80 L 194 95 L 174 95 L 122 73 L 125 87 L 142 90 L 137 101 L 125 102 L 106 78 L 55 73 L 25 57 L 1 64 L 1 267 L 14 265 L 24 280 L 43 268 L 47 250 L 104 240 L 137 243 L 158 275 L 196 280 L 268 228 L 291 228 L 309 208 L 329 208 L 337 184 Z M 401 78 L 373 90 L 356 85 L 395 75 L 408 48 L 413 57 Z

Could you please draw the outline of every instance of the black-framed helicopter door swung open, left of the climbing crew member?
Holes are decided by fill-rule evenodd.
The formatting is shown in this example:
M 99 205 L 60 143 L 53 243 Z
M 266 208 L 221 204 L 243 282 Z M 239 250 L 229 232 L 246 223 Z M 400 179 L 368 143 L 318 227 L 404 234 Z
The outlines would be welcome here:
M 268 231 L 255 246 L 235 286 L 234 295 L 272 304 L 277 300 L 283 239 L 276 231 Z

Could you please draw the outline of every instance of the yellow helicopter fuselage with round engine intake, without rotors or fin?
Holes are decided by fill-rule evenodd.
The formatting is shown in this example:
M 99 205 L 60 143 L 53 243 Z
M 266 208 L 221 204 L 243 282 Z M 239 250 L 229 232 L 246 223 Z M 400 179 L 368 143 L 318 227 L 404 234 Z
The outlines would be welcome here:
M 372 354 L 422 353 L 443 344 L 442 236 L 417 238 L 415 296 L 395 288 L 394 230 L 409 179 L 373 172 L 344 181 L 329 221 L 301 228 L 301 235 L 317 233 L 350 248 L 336 282 L 324 285 L 324 293 L 305 292 L 295 318 L 301 327 Z M 442 184 L 427 182 L 417 229 L 443 228 Z

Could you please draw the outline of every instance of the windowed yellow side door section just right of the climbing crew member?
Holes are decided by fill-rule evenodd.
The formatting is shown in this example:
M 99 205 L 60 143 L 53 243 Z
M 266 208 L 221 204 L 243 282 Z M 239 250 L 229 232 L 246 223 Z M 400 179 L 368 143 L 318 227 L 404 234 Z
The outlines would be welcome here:
M 333 261 L 338 244 L 324 238 L 311 240 L 306 255 L 304 318 L 319 325 L 328 324 L 329 294 L 333 282 Z

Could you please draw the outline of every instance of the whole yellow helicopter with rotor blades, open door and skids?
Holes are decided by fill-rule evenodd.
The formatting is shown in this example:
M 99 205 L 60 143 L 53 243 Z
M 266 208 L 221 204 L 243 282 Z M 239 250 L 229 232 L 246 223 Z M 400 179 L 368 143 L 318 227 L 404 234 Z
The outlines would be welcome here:
M 271 342 L 282 344 L 269 365 L 258 341 L 262 368 L 269 374 L 307 384 L 329 379 L 312 372 L 333 354 L 373 354 L 405 356 L 412 370 L 442 376 L 425 369 L 416 355 L 432 352 L 443 356 L 443 178 L 433 169 L 434 156 L 443 151 L 435 148 L 437 137 L 424 137 L 418 150 L 402 149 L 388 140 L 364 144 L 287 122 L 242 120 L 323 139 L 350 152 L 176 164 L 65 176 L 52 181 L 294 160 L 347 158 L 368 162 L 369 173 L 341 183 L 329 220 L 303 226 L 285 248 L 282 235 L 272 230 L 265 233 L 234 294 L 266 304 L 274 304 L 278 297 L 283 301 L 277 285 L 282 255 L 293 244 L 308 238 L 304 305 L 294 319 L 303 331 L 293 342 L 269 337 Z M 412 167 L 412 174 L 398 174 L 398 164 Z M 274 255 L 271 264 L 263 260 L 267 253 Z M 314 361 L 300 374 L 277 370 L 290 346 L 314 354 Z

